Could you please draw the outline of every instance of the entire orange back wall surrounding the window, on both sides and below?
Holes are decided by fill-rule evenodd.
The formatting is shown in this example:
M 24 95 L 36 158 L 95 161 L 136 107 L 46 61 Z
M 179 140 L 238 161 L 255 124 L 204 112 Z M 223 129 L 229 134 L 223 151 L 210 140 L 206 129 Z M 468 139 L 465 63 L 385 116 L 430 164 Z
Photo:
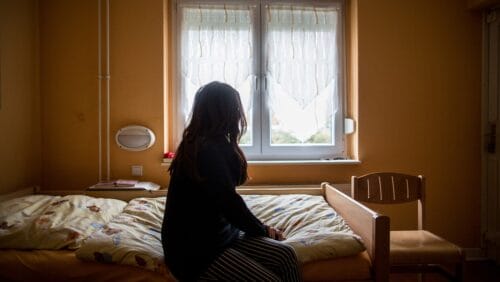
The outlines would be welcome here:
M 130 165 L 141 164 L 142 179 L 165 186 L 163 2 L 111 1 L 112 134 L 142 124 L 157 143 L 126 152 L 112 140 L 110 153 L 112 178 L 131 178 Z M 358 121 L 353 151 L 362 163 L 251 166 L 251 183 L 338 183 L 381 170 L 423 174 L 429 229 L 478 247 L 480 14 L 467 10 L 467 0 L 353 3 L 358 57 L 351 62 L 358 65 L 351 77 L 358 81 L 349 84 L 357 89 L 350 114 Z M 43 188 L 84 189 L 98 179 L 97 7 L 85 0 L 40 5 Z M 411 227 L 409 218 L 405 209 L 393 226 Z

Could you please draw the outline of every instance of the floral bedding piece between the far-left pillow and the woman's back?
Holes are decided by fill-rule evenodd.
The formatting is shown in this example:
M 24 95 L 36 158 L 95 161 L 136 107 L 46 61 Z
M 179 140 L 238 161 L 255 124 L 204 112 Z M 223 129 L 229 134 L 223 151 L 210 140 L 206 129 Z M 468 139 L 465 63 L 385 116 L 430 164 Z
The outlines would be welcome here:
M 85 240 L 76 257 L 168 274 L 161 243 L 164 210 L 165 197 L 131 200 L 120 215 Z

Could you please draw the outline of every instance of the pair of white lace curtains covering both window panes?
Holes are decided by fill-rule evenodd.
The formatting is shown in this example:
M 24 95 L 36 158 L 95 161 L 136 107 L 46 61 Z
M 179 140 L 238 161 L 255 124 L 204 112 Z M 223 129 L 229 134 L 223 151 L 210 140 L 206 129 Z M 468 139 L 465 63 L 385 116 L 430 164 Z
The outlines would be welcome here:
M 338 11 L 272 4 L 262 9 L 262 21 L 257 11 L 257 6 L 237 4 L 182 7 L 184 117 L 189 115 L 196 90 L 218 80 L 238 89 L 251 122 L 255 78 L 262 66 L 268 94 L 268 108 L 262 110 L 269 109 L 270 142 L 282 140 L 274 136 L 284 135 L 292 136 L 293 143 L 308 143 L 319 135 L 323 138 L 316 143 L 333 142 L 338 107 Z M 264 46 L 255 41 L 259 22 Z M 256 58 L 261 47 L 263 57 Z M 282 144 L 287 142 L 291 141 Z

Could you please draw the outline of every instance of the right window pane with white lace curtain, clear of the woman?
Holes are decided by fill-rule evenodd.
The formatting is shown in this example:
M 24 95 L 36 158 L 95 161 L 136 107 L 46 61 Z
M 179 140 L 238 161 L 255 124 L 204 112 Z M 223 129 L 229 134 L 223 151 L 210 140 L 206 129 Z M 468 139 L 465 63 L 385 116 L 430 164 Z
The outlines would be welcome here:
M 338 11 L 283 5 L 266 10 L 271 145 L 335 145 Z

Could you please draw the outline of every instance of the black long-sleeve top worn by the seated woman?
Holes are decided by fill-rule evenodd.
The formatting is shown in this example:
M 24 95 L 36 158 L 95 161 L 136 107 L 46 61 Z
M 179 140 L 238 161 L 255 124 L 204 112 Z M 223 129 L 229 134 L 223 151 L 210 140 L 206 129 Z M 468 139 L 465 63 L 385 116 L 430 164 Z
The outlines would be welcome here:
M 267 233 L 235 191 L 240 165 L 228 141 L 207 141 L 198 163 L 199 182 L 181 166 L 173 172 L 163 219 L 165 261 L 181 281 L 196 280 L 240 230 L 251 236 Z

